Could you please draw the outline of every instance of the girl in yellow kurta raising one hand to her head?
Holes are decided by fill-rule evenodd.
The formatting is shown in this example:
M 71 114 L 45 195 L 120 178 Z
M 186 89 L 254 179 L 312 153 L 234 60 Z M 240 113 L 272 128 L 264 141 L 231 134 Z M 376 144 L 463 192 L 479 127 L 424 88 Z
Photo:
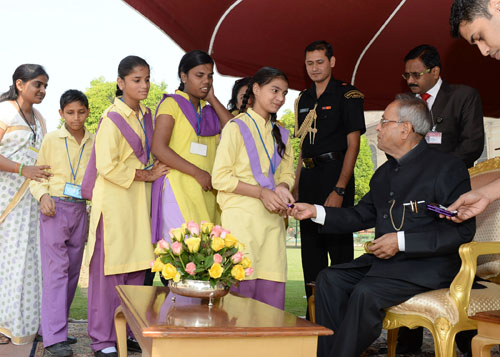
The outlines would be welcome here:
M 203 51 L 186 53 L 179 90 L 156 112 L 152 152 L 171 170 L 153 186 L 154 242 L 187 221 L 219 223 L 210 173 L 221 127 L 232 116 L 214 95 L 213 64 Z

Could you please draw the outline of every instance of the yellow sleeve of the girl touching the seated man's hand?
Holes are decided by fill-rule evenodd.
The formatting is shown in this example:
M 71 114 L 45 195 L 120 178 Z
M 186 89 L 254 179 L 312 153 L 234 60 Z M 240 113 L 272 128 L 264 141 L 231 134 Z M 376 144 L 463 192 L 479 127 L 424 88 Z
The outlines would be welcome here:
M 222 130 L 212 171 L 212 185 L 216 190 L 233 192 L 238 186 L 239 179 L 234 175 L 234 165 L 241 147 L 243 138 L 238 125 L 226 125 Z

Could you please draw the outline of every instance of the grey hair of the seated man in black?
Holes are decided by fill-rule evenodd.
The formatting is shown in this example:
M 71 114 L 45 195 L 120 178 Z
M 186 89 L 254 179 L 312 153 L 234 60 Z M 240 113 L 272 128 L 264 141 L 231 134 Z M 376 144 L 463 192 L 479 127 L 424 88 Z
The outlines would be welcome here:
M 398 94 L 396 100 L 399 103 L 399 120 L 410 122 L 417 134 L 425 136 L 432 126 L 431 113 L 427 104 L 410 94 Z

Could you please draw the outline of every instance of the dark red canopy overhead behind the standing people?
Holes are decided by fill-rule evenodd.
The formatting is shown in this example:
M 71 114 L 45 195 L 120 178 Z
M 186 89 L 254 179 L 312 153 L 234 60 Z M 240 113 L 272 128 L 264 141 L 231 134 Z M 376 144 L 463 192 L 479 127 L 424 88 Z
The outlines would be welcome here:
M 125 0 L 184 50 L 209 52 L 221 74 L 248 76 L 274 66 L 290 86 L 309 86 L 304 47 L 332 43 L 334 76 L 365 94 L 366 110 L 383 110 L 400 92 L 403 57 L 428 43 L 441 54 L 442 77 L 481 93 L 484 113 L 500 116 L 494 78 L 500 64 L 464 40 L 452 39 L 452 0 Z

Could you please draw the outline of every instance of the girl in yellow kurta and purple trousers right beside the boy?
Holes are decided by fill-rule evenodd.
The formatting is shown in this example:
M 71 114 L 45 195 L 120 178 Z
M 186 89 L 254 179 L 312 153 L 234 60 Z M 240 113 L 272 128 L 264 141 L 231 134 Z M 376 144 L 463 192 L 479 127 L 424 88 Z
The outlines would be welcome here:
M 92 349 L 103 356 L 116 353 L 115 286 L 143 285 L 144 270 L 154 259 L 147 181 L 167 171 L 159 163 L 146 169 L 151 162 L 152 123 L 149 108 L 140 101 L 148 96 L 149 65 L 140 57 L 125 57 L 117 82 L 117 98 L 104 111 L 95 138 L 97 179 L 86 256 L 89 336 Z M 90 163 L 85 176 L 89 169 Z

